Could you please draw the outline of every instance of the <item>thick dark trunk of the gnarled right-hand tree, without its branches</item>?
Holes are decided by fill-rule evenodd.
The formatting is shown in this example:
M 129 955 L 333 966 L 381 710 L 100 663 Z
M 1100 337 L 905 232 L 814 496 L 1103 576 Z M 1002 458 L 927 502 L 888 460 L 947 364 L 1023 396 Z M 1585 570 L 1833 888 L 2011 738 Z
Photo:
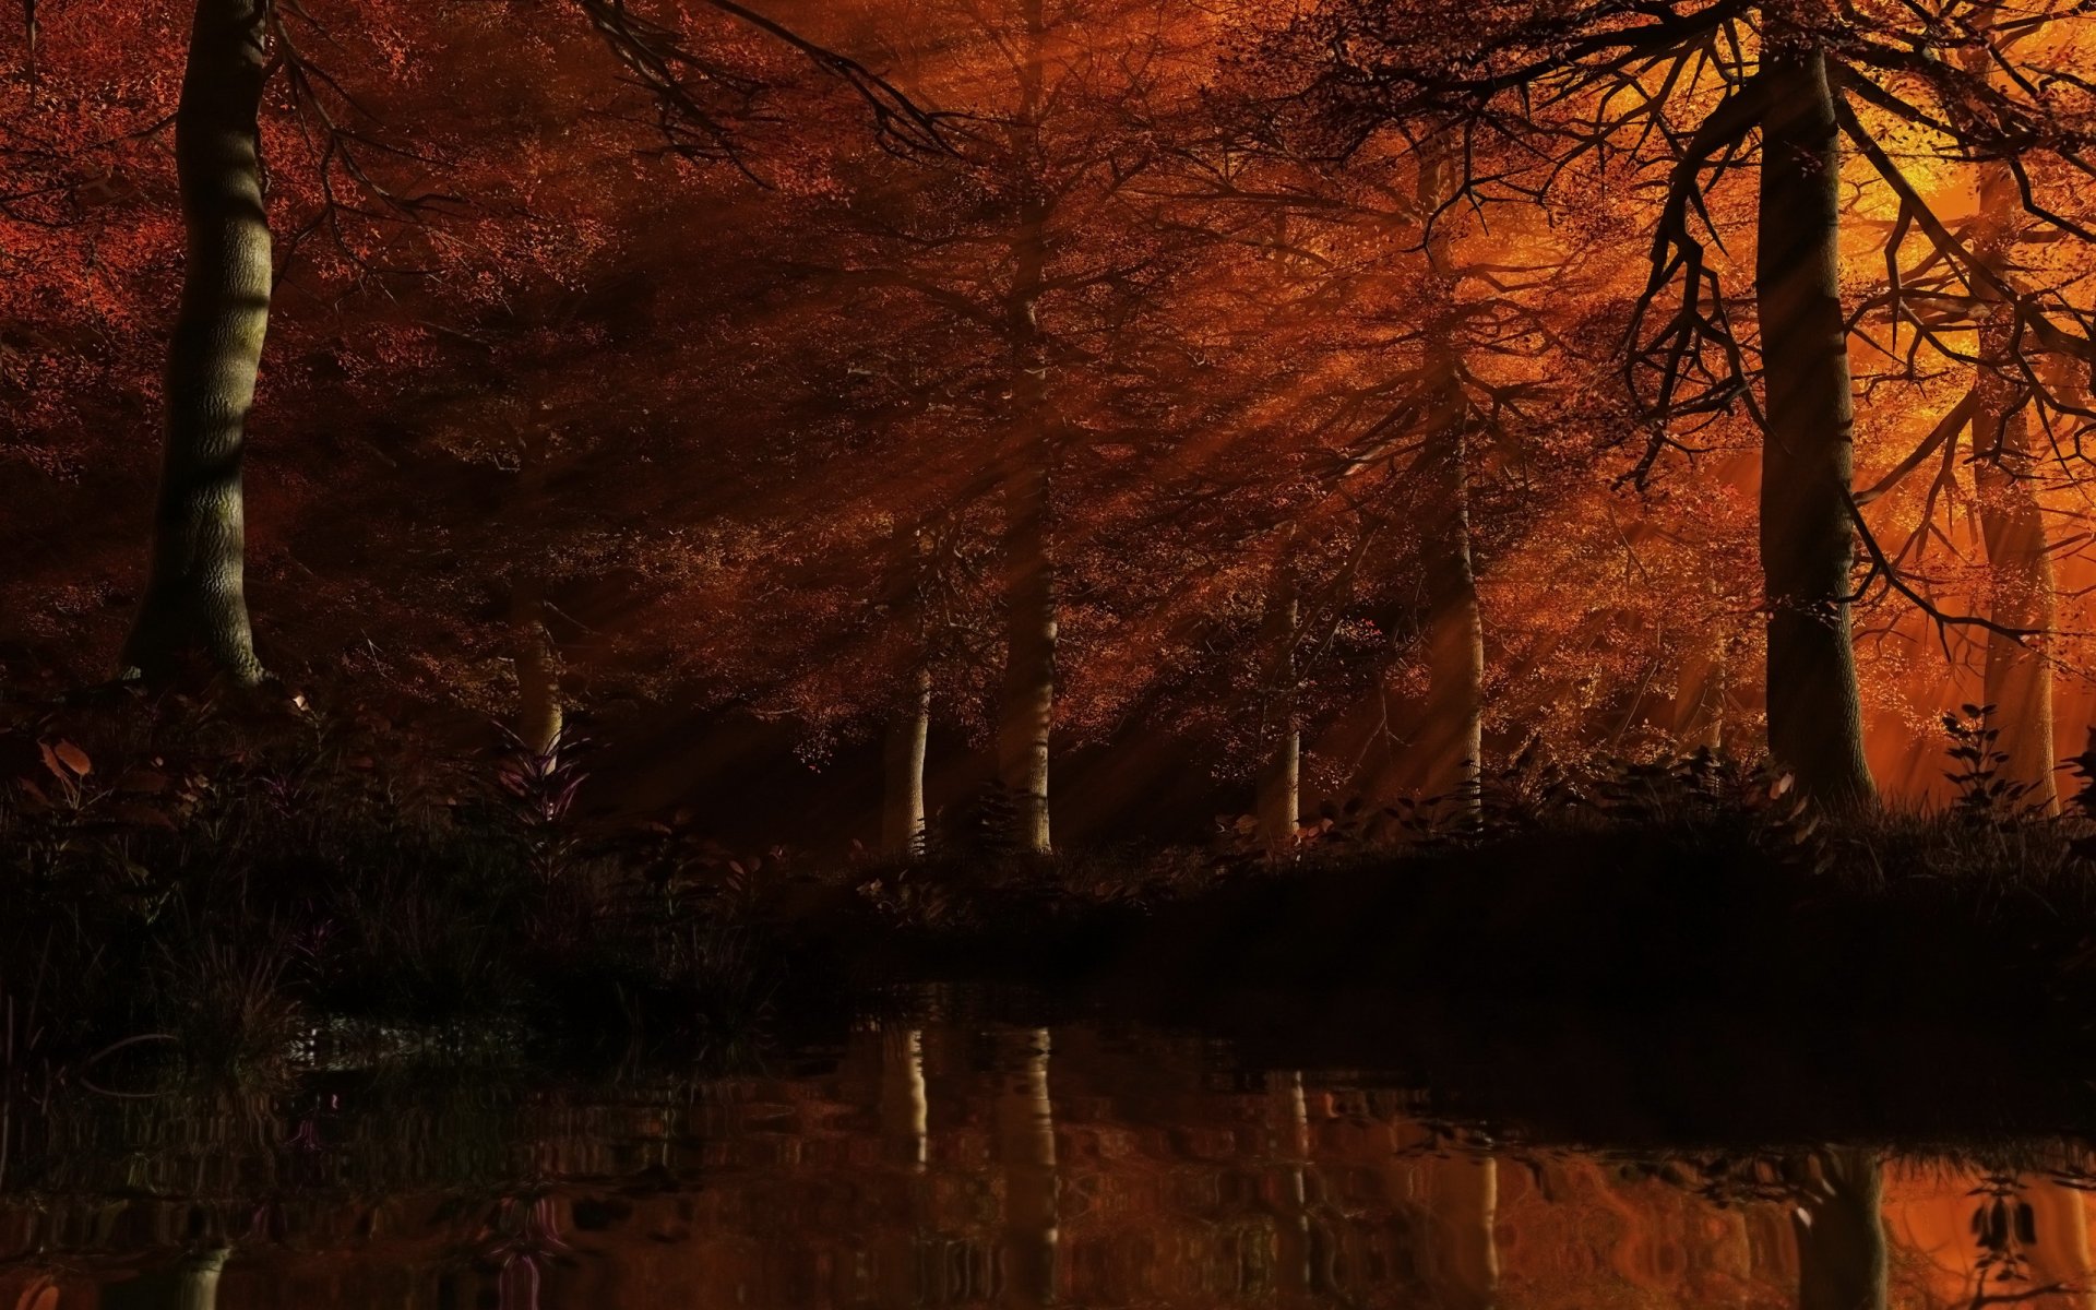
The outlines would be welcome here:
M 1769 604 L 1769 755 L 1836 809 L 1874 796 L 1849 635 L 1853 396 L 1840 312 L 1840 149 L 1826 57 L 1773 15 L 1763 38 L 1761 568 Z

